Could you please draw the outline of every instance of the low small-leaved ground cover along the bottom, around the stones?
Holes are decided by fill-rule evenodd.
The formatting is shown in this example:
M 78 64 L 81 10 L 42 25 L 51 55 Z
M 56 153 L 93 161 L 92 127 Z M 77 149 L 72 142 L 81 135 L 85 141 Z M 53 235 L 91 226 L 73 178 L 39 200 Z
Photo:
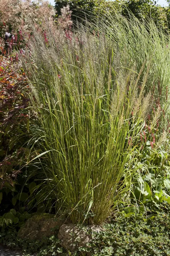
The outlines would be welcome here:
M 147 209 L 148 213 L 151 211 Z M 57 236 L 41 241 L 17 238 L 17 229 L 5 229 L 0 232 L 0 241 L 4 245 L 22 250 L 23 255 L 134 255 L 134 256 L 169 256 L 169 204 L 163 204 L 159 211 L 147 215 L 129 216 L 118 213 L 110 224 L 104 225 L 104 231 L 94 232 L 92 241 L 86 247 L 79 247 L 77 252 L 66 252 Z M 82 226 L 82 228 L 86 228 Z M 86 228 L 88 229 L 88 228 Z M 79 239 L 79 238 L 78 238 Z M 76 241 L 73 241 L 76 244 Z M 86 254 L 87 253 L 87 254 Z

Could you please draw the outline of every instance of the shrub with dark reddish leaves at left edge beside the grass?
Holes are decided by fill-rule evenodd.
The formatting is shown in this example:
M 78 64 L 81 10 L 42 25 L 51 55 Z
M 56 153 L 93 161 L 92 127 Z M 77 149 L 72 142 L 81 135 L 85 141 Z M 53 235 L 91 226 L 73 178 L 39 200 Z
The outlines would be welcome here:
M 28 106 L 24 71 L 22 69 L 17 71 L 17 62 L 13 63 L 10 58 L 1 61 L 0 69 L 0 188 L 2 189 L 5 182 L 13 185 L 12 177 L 17 176 L 15 166 L 20 164 L 19 154 L 23 153 L 23 149 L 18 150 L 21 141 L 17 135 L 29 129 L 29 119 L 24 111 Z

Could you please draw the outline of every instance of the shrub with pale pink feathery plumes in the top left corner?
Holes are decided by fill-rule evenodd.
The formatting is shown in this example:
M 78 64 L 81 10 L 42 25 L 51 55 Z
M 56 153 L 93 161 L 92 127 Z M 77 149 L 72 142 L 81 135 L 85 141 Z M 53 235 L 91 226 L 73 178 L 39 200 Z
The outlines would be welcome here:
M 43 30 L 46 28 L 47 21 L 51 26 L 54 25 L 53 16 L 55 13 L 53 6 L 48 1 L 1 0 L 0 6 L 1 36 L 6 31 L 18 33 L 21 29 L 23 33 L 29 32 L 32 30 L 33 24 L 37 24 Z

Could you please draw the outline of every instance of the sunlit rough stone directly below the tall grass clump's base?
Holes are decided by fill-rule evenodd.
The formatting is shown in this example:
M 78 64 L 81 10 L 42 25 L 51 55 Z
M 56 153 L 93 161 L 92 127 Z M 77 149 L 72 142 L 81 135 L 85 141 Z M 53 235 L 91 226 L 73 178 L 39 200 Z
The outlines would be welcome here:
M 77 250 L 78 247 L 87 247 L 92 240 L 92 232 L 101 232 L 101 227 L 76 226 L 75 224 L 64 224 L 58 232 L 61 246 L 68 251 Z

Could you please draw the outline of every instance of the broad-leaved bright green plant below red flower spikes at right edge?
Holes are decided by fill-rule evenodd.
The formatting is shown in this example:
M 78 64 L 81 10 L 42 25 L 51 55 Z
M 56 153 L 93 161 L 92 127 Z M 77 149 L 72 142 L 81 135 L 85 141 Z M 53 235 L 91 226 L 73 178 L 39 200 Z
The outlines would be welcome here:
M 163 201 L 170 202 L 169 153 L 161 147 L 152 153 L 148 150 L 144 149 L 142 163 L 138 163 L 142 164 L 142 168 L 140 174 L 137 174 L 133 193 L 139 205 L 159 208 Z

